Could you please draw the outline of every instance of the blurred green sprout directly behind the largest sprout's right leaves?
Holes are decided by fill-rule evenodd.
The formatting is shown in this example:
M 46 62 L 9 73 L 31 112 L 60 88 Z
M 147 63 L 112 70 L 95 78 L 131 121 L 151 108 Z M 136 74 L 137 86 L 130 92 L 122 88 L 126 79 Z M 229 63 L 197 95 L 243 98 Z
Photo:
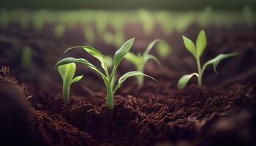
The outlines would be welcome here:
M 160 61 L 154 56 L 154 55 L 151 55 L 149 54 L 151 48 L 154 46 L 154 44 L 156 42 L 158 42 L 159 39 L 155 39 L 153 42 L 151 42 L 148 47 L 146 48 L 145 52 L 143 53 L 143 55 L 141 55 L 140 53 L 138 55 L 135 55 L 134 53 L 127 53 L 127 55 L 124 56 L 124 58 L 127 59 L 127 61 L 131 62 L 132 64 L 134 64 L 136 66 L 136 69 L 139 71 L 139 72 L 144 72 L 144 68 L 145 68 L 145 65 L 147 63 L 147 61 L 149 59 L 153 59 L 154 61 L 157 62 L 157 64 L 159 66 L 162 66 Z M 144 77 L 143 76 L 138 76 L 137 77 L 137 80 L 138 80 L 138 85 L 139 87 L 141 87 L 143 85 L 143 80 L 144 80 Z

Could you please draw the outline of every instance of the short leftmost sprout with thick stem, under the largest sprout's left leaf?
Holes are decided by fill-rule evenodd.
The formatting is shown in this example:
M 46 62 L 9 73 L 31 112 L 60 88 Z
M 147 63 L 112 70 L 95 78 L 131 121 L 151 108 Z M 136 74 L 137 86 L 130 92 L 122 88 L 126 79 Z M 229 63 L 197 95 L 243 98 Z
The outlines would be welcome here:
M 69 103 L 70 85 L 74 82 L 78 82 L 83 77 L 83 75 L 80 75 L 78 77 L 73 78 L 75 75 L 75 69 L 76 69 L 76 65 L 74 63 L 58 66 L 59 74 L 61 74 L 61 78 L 63 80 L 63 97 L 64 97 L 64 102 L 66 104 Z

